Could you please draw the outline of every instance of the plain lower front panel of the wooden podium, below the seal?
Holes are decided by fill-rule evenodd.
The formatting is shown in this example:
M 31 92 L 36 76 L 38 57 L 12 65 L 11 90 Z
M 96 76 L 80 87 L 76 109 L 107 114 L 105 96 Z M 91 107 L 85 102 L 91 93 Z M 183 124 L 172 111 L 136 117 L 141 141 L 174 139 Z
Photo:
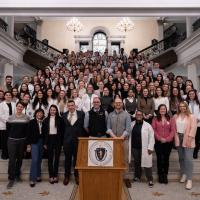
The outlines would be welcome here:
M 79 171 L 80 200 L 121 200 L 122 173 L 118 170 Z

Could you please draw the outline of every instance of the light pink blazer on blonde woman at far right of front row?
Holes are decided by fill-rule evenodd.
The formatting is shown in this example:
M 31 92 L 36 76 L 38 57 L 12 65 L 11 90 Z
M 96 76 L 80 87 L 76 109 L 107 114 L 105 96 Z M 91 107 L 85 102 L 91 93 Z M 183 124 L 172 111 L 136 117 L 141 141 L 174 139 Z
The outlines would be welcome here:
M 175 121 L 177 120 L 177 115 L 174 115 Z M 196 130 L 197 130 L 197 119 L 194 115 L 189 115 L 186 120 L 186 130 L 183 136 L 183 144 L 182 147 L 186 147 L 186 142 L 188 140 L 188 137 L 192 137 L 191 146 L 190 148 L 195 147 L 195 136 L 196 136 Z M 175 132 L 175 145 L 178 147 L 180 146 L 179 136 L 177 131 Z

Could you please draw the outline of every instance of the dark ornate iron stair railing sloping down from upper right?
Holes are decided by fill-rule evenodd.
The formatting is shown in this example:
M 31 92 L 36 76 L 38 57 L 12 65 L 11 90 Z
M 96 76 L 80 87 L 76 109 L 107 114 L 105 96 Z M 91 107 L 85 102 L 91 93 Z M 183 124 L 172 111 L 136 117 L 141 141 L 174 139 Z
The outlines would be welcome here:
M 177 33 L 173 33 L 171 36 L 152 44 L 151 46 L 139 51 L 139 54 L 143 54 L 148 59 L 153 59 L 166 51 L 171 47 L 175 47 L 180 44 L 183 40 L 185 40 L 186 35 L 177 35 Z

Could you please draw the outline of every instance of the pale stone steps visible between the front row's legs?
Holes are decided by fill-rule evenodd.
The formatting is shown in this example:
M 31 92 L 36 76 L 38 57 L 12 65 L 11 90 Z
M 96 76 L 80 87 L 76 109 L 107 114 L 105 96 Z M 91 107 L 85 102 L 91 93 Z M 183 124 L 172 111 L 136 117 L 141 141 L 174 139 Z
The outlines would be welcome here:
M 200 180 L 200 159 L 194 160 L 194 171 L 193 171 L 193 180 Z M 22 165 L 22 179 L 28 181 L 29 180 L 29 172 L 30 172 L 30 164 L 31 159 L 24 159 Z M 7 181 L 7 170 L 8 170 L 8 161 L 0 159 L 0 181 Z M 170 164 L 169 164 L 169 175 L 168 178 L 170 181 L 178 181 L 179 180 L 179 161 L 178 161 L 178 153 L 177 150 L 172 150 L 170 155 Z M 60 166 L 59 166 L 59 176 L 61 180 L 64 177 L 64 154 L 61 153 L 60 156 Z M 154 180 L 157 180 L 157 166 L 156 166 L 156 155 L 153 154 L 153 176 Z M 127 177 L 130 179 L 133 178 L 133 166 L 130 165 L 130 170 L 127 173 Z M 43 159 L 42 162 L 42 178 L 44 180 L 48 180 L 48 163 L 47 159 Z

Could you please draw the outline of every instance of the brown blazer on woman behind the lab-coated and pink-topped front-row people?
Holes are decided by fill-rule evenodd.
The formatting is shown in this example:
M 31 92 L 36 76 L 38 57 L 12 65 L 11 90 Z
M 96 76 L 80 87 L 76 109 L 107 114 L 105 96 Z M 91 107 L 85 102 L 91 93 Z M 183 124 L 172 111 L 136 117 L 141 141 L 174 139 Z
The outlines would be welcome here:
M 139 97 L 137 101 L 137 108 L 144 114 L 151 114 L 153 116 L 155 110 L 155 104 L 153 98 L 148 97 L 147 101 L 144 98 Z

